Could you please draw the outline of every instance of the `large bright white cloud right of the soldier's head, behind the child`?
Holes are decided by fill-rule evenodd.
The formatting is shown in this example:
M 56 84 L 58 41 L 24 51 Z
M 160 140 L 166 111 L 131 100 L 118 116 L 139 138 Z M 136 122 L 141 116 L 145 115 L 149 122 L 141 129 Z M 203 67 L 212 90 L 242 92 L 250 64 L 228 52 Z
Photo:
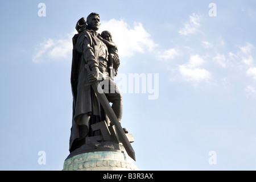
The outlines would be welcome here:
M 144 53 L 152 51 L 158 45 L 151 39 L 151 35 L 144 29 L 142 23 L 134 23 L 133 28 L 123 20 L 110 19 L 102 22 L 100 30 L 111 32 L 113 42 L 117 44 L 118 55 L 120 57 L 133 56 L 134 53 Z

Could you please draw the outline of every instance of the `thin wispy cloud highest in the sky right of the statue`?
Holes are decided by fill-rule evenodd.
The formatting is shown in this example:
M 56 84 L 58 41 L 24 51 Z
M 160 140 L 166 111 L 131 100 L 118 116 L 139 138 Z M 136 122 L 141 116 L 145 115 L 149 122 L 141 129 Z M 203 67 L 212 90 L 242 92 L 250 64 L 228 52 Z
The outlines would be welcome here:
M 189 21 L 184 23 L 184 27 L 179 31 L 180 35 L 196 34 L 201 26 L 201 16 L 193 13 L 189 16 Z

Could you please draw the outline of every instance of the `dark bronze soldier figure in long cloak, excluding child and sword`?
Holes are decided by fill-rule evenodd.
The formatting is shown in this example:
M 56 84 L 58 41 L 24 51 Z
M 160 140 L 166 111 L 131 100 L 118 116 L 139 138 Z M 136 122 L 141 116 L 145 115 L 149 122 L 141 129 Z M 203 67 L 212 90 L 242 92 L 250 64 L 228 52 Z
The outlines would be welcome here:
M 110 87 L 105 96 L 112 102 L 112 109 L 118 121 L 122 118 L 122 93 L 110 78 L 108 69 L 113 65 L 109 60 L 109 49 L 98 35 L 100 15 L 91 13 L 81 18 L 76 24 L 78 34 L 73 36 L 73 56 L 71 69 L 71 86 L 73 94 L 73 119 L 69 151 L 72 152 L 84 144 L 86 137 L 99 135 L 90 126 L 106 121 L 110 126 L 106 109 L 97 98 L 97 91 L 92 84 L 108 82 Z M 110 41 L 109 41 L 110 42 Z M 111 57 L 109 59 L 109 57 Z M 119 66 L 119 59 L 114 57 L 115 67 Z M 104 86 L 104 85 L 103 85 Z M 114 90 L 113 90 L 114 89 Z

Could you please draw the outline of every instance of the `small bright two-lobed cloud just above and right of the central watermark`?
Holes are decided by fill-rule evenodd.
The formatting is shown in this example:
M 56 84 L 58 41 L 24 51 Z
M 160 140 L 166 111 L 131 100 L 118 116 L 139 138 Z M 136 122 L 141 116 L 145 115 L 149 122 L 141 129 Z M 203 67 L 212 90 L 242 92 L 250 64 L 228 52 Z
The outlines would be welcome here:
M 199 55 L 193 55 L 187 64 L 179 65 L 181 75 L 188 81 L 209 81 L 210 72 L 200 68 L 204 60 Z

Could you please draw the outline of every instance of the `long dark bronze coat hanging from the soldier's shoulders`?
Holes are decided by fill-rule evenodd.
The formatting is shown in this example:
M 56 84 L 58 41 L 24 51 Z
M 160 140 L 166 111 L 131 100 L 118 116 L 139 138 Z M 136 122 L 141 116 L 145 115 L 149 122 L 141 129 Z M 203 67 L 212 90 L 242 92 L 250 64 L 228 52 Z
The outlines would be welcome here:
M 80 114 L 90 114 L 90 119 L 97 120 L 100 116 L 100 105 L 96 94 L 89 85 L 88 71 L 85 64 L 98 65 L 98 44 L 94 32 L 84 30 L 73 36 L 73 54 L 71 68 L 71 88 L 73 95 L 73 117 L 69 151 L 75 150 L 74 141 L 79 139 L 79 126 L 76 118 Z M 91 124 L 96 121 L 90 122 Z M 89 126 L 88 126 L 89 128 Z

